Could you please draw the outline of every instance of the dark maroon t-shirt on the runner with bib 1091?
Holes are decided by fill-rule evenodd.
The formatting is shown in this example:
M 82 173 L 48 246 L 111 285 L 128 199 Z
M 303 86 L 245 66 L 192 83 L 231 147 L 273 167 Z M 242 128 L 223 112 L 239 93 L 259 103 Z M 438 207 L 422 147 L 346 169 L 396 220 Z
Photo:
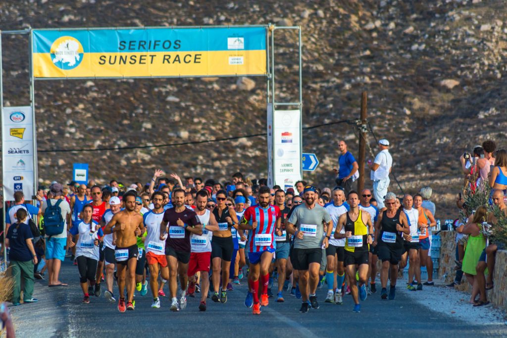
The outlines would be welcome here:
M 193 227 L 201 224 L 195 211 L 185 208 L 182 212 L 176 212 L 176 207 L 167 209 L 164 212 L 162 220 L 167 222 L 169 235 L 165 241 L 166 247 L 171 247 L 176 251 L 190 252 L 190 231 L 177 225 L 177 220 L 181 219 L 187 227 Z

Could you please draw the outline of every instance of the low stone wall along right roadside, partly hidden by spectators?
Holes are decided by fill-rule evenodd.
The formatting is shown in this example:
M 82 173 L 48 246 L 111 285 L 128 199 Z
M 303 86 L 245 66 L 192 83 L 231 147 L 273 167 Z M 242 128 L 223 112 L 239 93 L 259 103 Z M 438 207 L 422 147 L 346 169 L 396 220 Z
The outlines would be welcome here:
M 454 259 L 456 243 L 456 233 L 454 231 L 442 231 L 440 233 L 442 239 L 442 246 L 440 248 L 440 267 L 439 276 L 445 284 L 454 281 L 456 275 L 456 266 Z M 507 308 L 507 251 L 501 250 L 496 253 L 495 258 L 495 271 L 493 272 L 494 288 L 488 292 L 488 301 L 500 308 Z M 466 281 L 465 276 L 461 280 L 461 285 L 457 287 L 459 290 L 470 293 L 472 287 Z

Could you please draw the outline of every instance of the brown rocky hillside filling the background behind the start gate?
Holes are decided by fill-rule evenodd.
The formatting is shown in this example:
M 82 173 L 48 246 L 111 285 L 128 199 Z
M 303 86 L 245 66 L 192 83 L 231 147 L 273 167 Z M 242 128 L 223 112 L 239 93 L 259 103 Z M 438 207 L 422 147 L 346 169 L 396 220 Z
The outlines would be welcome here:
M 446 205 L 460 184 L 457 157 L 494 138 L 505 146 L 507 25 L 500 0 L 317 0 L 143 2 L 30 0 L 0 3 L 0 29 L 266 24 L 303 27 L 304 126 L 355 119 L 368 92 L 369 122 L 393 144 L 405 191 L 431 184 Z M 295 35 L 275 37 L 280 97 L 297 94 Z M 286 35 L 284 35 L 286 34 Z M 279 37 L 279 38 L 278 38 Z M 28 103 L 27 41 L 4 36 L 6 105 Z M 147 180 L 156 167 L 180 175 L 266 174 L 265 137 L 122 151 L 51 149 L 138 146 L 262 133 L 265 81 L 238 79 L 40 81 L 36 83 L 43 180 L 69 179 L 73 162 L 98 179 Z M 305 178 L 331 185 L 336 142 L 357 138 L 346 125 L 303 132 L 319 168 Z M 369 135 L 372 146 L 375 145 Z M 376 149 L 373 149 L 376 152 Z M 401 191 L 391 185 L 396 193 Z

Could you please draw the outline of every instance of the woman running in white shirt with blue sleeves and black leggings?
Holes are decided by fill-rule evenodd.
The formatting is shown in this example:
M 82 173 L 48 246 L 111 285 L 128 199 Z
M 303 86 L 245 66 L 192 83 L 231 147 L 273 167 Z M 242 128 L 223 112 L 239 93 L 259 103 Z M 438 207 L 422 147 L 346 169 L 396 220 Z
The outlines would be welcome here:
M 90 287 L 95 285 L 95 274 L 99 258 L 99 238 L 102 238 L 104 235 L 102 229 L 100 229 L 100 225 L 92 220 L 93 207 L 91 204 L 85 205 L 81 214 L 83 215 L 83 220 L 77 227 L 70 229 L 70 234 L 77 236 L 78 241 L 77 243 L 70 242 L 69 246 L 73 247 L 76 245 L 79 282 L 84 293 L 83 303 L 89 304 L 88 283 L 90 283 Z

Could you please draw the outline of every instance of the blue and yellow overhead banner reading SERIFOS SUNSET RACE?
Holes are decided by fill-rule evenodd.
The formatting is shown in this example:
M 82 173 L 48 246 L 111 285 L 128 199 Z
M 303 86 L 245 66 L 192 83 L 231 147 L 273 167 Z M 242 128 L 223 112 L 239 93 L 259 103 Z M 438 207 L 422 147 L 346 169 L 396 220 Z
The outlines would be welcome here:
M 33 30 L 35 78 L 266 74 L 266 27 Z

